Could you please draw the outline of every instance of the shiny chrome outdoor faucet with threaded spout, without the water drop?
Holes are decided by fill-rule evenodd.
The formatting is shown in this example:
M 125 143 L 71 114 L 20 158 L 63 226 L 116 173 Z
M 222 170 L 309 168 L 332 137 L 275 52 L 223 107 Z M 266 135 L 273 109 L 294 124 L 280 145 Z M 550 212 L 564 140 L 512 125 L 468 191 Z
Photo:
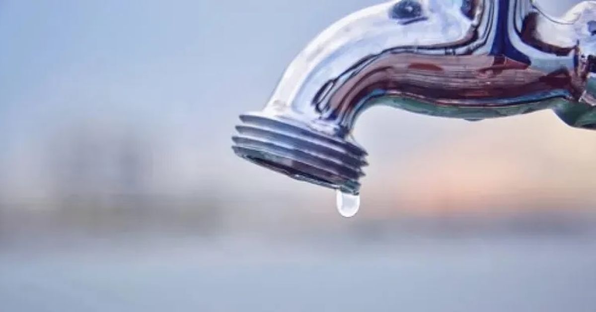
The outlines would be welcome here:
M 374 105 L 477 121 L 552 109 L 596 129 L 596 2 L 561 18 L 533 0 L 401 0 L 318 35 L 232 149 L 289 177 L 358 194 L 367 152 L 352 137 Z

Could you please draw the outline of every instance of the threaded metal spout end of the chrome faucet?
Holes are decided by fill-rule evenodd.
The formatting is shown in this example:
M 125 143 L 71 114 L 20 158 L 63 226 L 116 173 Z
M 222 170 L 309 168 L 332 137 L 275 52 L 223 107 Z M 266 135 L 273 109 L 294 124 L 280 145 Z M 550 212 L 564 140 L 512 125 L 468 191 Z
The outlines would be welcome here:
M 300 181 L 358 194 L 364 149 L 340 137 L 311 130 L 282 116 L 261 112 L 240 116 L 232 137 L 236 155 Z

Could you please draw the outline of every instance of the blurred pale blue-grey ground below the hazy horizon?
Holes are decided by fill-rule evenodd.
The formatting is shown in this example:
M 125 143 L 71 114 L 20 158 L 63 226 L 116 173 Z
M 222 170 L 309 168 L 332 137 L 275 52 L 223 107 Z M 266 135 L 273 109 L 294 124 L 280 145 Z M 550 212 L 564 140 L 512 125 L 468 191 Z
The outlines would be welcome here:
M 594 310 L 594 236 L 396 240 L 160 236 L 2 253 L 0 309 Z

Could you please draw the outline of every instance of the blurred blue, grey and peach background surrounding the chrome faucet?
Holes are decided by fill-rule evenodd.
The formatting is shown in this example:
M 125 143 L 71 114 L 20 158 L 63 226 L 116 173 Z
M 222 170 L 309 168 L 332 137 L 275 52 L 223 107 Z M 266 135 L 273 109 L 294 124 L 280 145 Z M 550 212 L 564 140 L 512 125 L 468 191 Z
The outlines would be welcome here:
M 353 219 L 233 155 L 377 2 L 0 0 L 0 311 L 594 311 L 596 132 L 550 111 L 371 109 Z

